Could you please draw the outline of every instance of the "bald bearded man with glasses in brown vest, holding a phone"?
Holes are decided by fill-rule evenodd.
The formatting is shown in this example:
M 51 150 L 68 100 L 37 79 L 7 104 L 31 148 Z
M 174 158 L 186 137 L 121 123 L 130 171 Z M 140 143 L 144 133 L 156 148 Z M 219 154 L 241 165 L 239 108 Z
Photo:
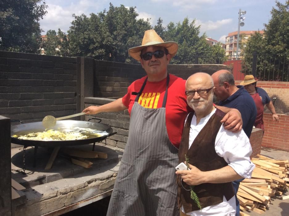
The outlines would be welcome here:
M 176 171 L 181 216 L 235 215 L 232 181 L 250 178 L 255 167 L 245 132 L 233 134 L 221 124 L 225 113 L 213 106 L 215 89 L 207 73 L 195 73 L 186 82 L 187 103 L 194 111 L 186 118 L 179 148 L 179 163 L 188 160 L 190 170 Z M 191 186 L 199 205 L 191 198 Z

